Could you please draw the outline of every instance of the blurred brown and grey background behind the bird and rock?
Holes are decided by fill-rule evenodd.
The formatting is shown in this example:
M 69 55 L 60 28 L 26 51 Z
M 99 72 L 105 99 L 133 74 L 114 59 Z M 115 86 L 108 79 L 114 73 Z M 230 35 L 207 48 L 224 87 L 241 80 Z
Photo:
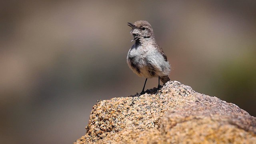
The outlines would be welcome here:
M 141 92 L 126 64 L 137 20 L 152 25 L 171 80 L 256 116 L 255 0 L 2 0 L 0 10 L 0 143 L 71 144 L 97 100 Z

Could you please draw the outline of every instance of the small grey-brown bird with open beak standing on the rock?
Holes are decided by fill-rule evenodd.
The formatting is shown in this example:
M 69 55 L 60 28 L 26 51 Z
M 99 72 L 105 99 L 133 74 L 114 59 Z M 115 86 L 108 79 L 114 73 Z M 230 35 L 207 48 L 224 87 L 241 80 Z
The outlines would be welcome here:
M 135 43 L 128 51 L 127 64 L 132 71 L 138 76 L 146 78 L 142 92 L 148 78 L 158 77 L 158 88 L 160 88 L 161 80 L 164 84 L 170 80 L 170 64 L 164 51 L 156 43 L 155 36 L 151 25 L 144 20 L 139 20 L 128 26 L 132 28 L 131 34 Z M 132 40 L 133 41 L 133 40 Z

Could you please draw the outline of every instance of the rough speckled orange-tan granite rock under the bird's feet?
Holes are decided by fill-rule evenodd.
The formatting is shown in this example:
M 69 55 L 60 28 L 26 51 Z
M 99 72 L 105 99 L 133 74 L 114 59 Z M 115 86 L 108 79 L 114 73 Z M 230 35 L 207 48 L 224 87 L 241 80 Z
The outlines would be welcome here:
M 98 101 L 74 144 L 256 143 L 256 118 L 180 82 Z

